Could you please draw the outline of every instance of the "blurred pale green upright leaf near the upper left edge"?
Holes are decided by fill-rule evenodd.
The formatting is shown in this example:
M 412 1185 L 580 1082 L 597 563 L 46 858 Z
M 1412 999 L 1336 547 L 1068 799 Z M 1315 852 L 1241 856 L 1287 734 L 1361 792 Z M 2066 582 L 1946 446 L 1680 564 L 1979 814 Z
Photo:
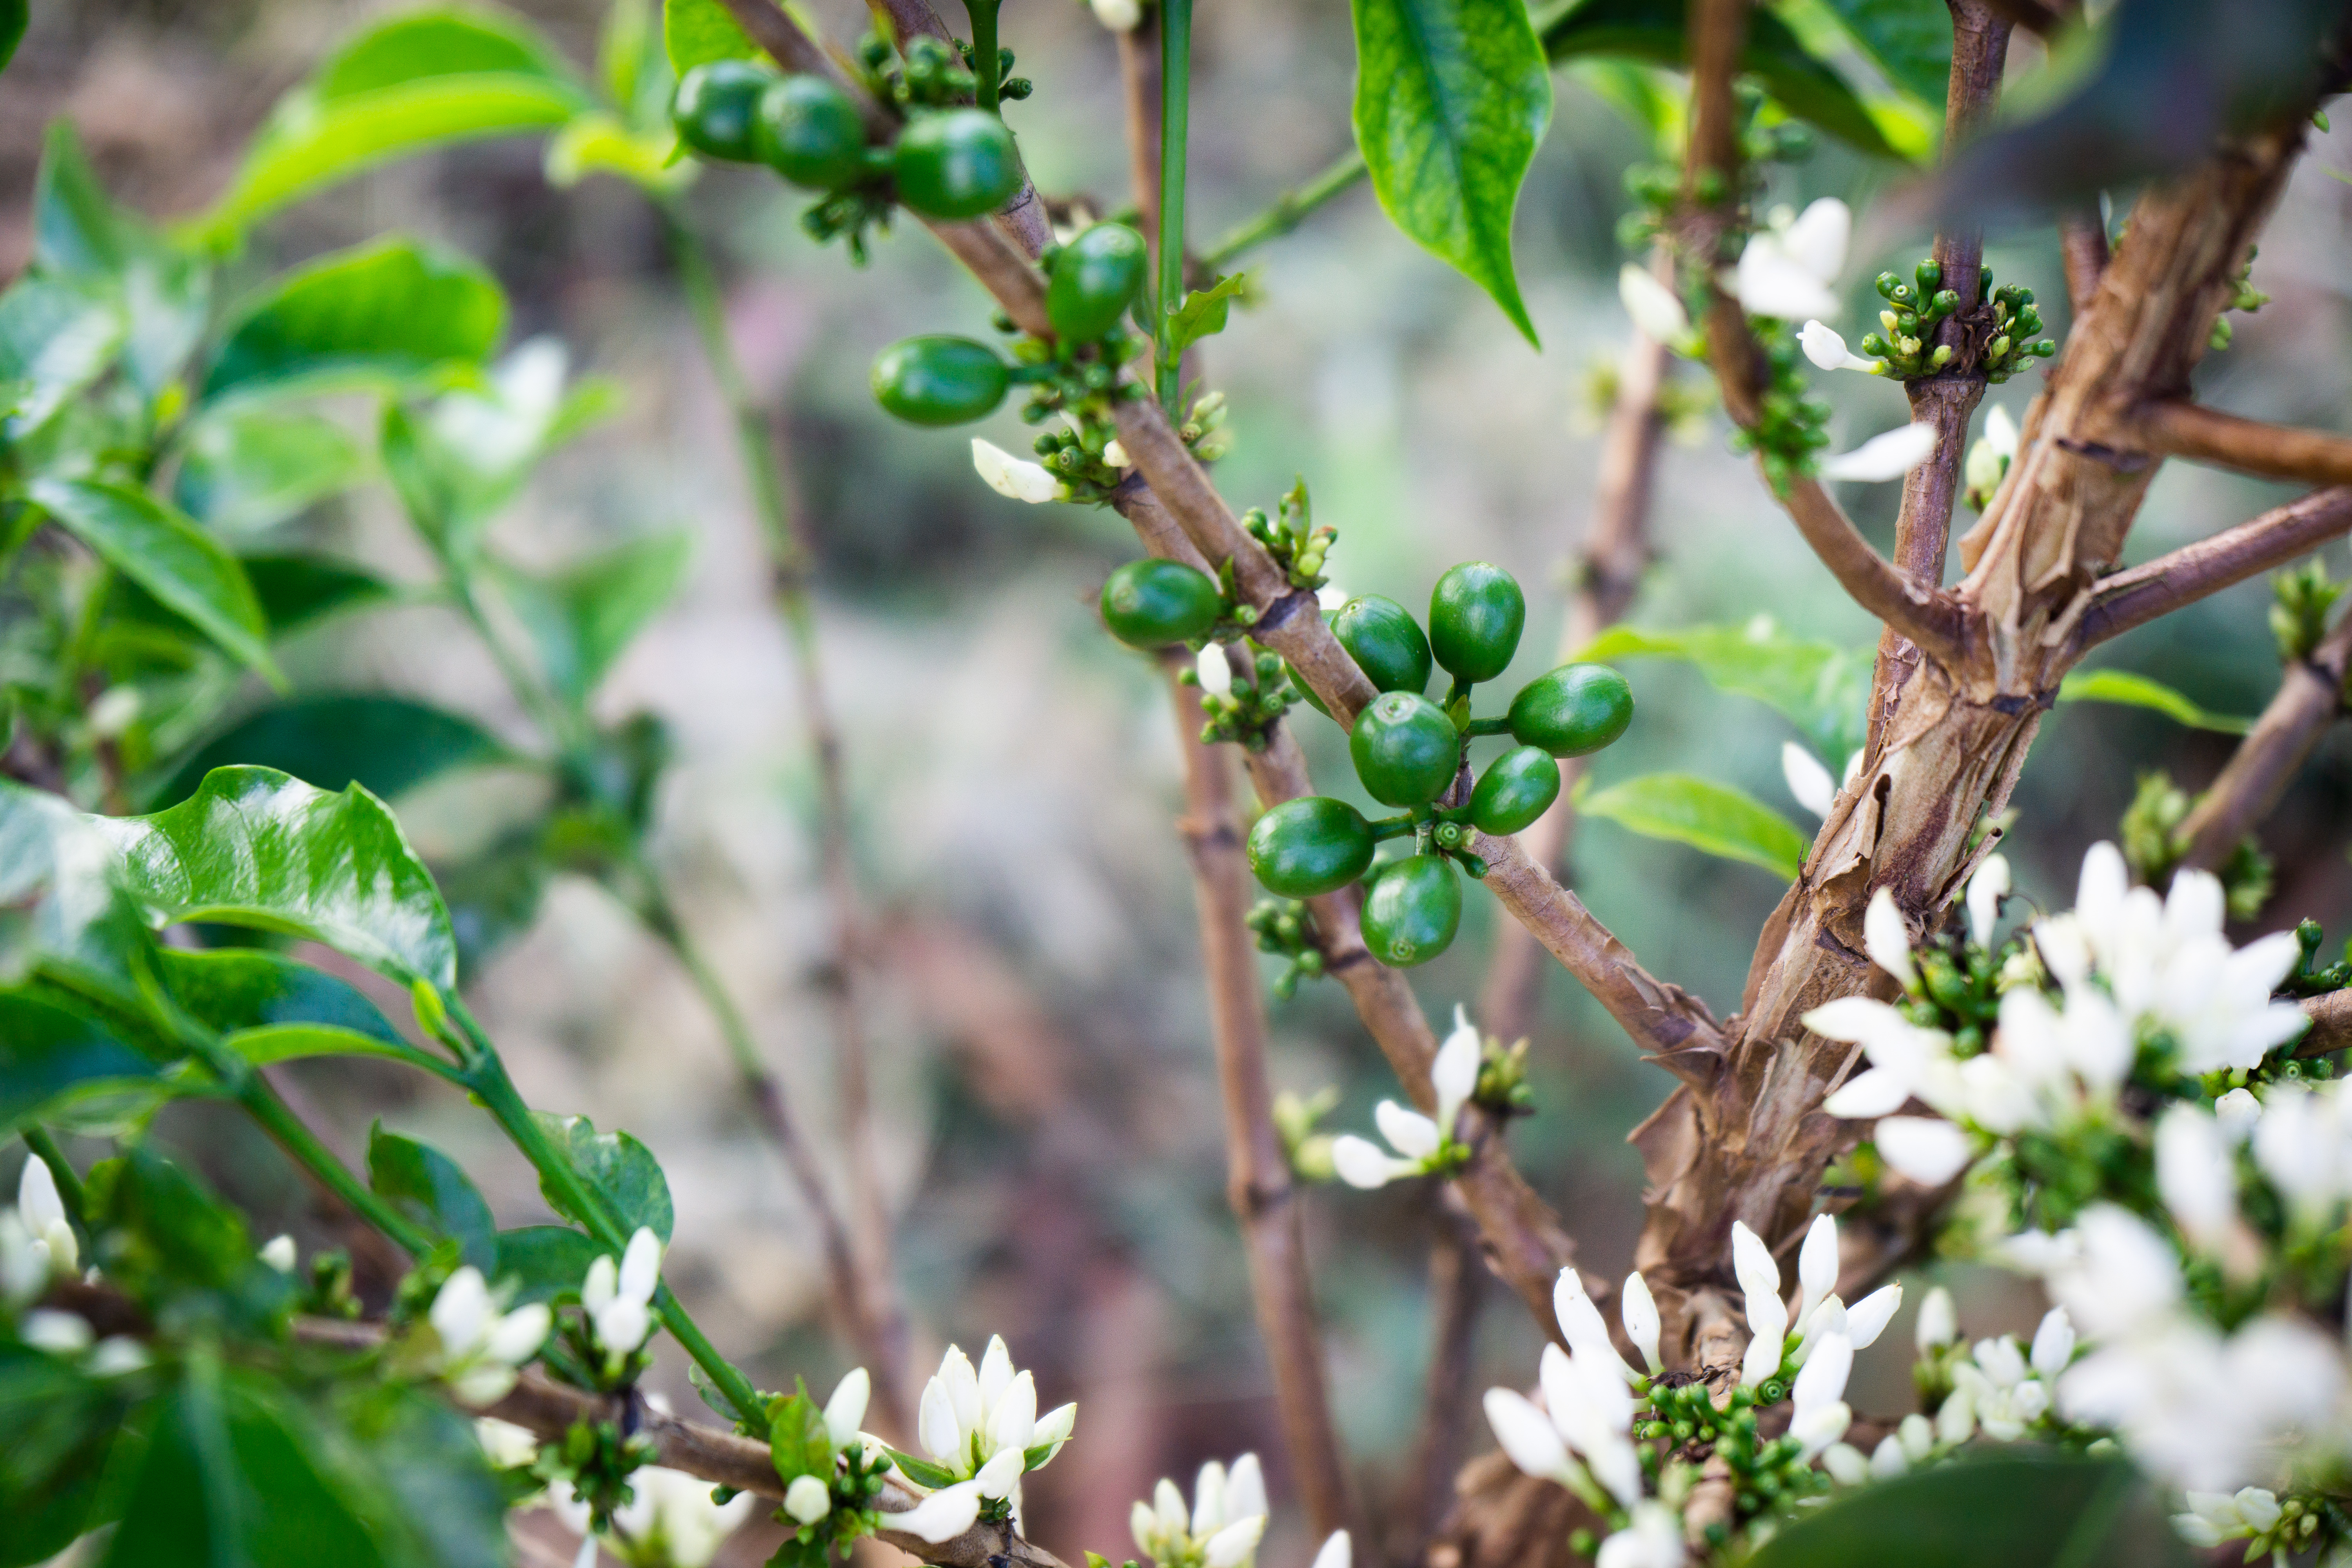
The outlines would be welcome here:
M 103 294 L 125 322 L 125 362 L 146 395 L 188 362 L 212 306 L 212 268 L 118 207 L 59 120 L 33 186 L 33 268 Z

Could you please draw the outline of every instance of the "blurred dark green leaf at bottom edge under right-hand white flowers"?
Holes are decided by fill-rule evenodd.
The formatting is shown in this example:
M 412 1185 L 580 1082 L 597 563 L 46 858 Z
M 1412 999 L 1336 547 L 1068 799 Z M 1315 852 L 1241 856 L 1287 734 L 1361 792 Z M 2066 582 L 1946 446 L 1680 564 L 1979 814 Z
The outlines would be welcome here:
M 2122 1460 L 1987 1448 L 1872 1481 L 1773 1535 L 1755 1568 L 2187 1568 L 2194 1559 Z

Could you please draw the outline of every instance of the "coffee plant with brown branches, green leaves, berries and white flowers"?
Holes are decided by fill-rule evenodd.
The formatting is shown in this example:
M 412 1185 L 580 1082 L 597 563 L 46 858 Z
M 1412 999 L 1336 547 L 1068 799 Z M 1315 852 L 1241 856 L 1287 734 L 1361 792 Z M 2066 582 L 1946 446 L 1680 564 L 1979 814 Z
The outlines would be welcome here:
M 1174 1481 L 1134 1500 L 1157 1568 L 1251 1568 L 1277 1502 L 1315 1568 L 2352 1563 L 2352 945 L 2338 961 L 2317 919 L 2270 907 L 2258 837 L 2347 701 L 2352 618 L 2314 552 L 2352 531 L 2352 437 L 2190 395 L 2232 343 L 2225 313 L 2270 301 L 2256 242 L 2352 71 L 2352 9 L 1350 0 L 1352 150 L 1211 244 L 1188 223 L 1195 0 L 1089 9 L 1138 139 L 1110 202 L 1035 188 L 1018 106 L 1040 87 L 1014 75 L 1035 12 L 1002 0 L 875 0 L 870 31 L 835 40 L 776 0 L 616 0 L 593 68 L 487 7 L 365 19 L 174 226 L 118 200 L 68 120 L 47 129 L 31 259 L 0 294 L 0 1135 L 24 1145 L 0 1208 L 0 1568 L 489 1566 L 522 1561 L 517 1519 L 539 1509 L 583 1566 L 701 1568 L 760 1516 L 788 1568 L 863 1537 L 946 1568 L 1061 1568 L 1025 1535 L 1023 1479 L 1082 1441 L 1077 1406 L 1049 1406 L 1002 1338 L 922 1378 L 898 1281 L 833 1211 L 649 851 L 675 748 L 659 715 L 600 696 L 682 588 L 691 534 L 553 569 L 499 538 L 623 390 L 576 376 L 553 336 L 513 341 L 496 277 L 447 244 L 254 261 L 301 202 L 494 136 L 543 139 L 550 186 L 621 181 L 659 221 L 814 693 L 844 1011 L 854 867 L 811 562 L 687 188 L 720 165 L 774 176 L 844 268 L 938 242 L 993 313 L 929 299 L 936 322 L 877 348 L 875 402 L 950 428 L 1018 400 L 1030 456 L 974 440 L 976 477 L 1134 529 L 1141 555 L 1094 607 L 1181 729 L 1230 1190 L 1284 1436 L 1282 1465 L 1244 1453 L 1190 1500 Z M 24 0 L 0 0 L 0 63 L 24 31 Z M 1510 684 L 1526 574 L 1463 559 L 1425 614 L 1336 588 L 1345 517 L 1317 522 L 1305 477 L 1272 510 L 1218 491 L 1249 421 L 1211 371 L 1216 339 L 1249 329 L 1237 308 L 1284 306 L 1237 263 L 1359 183 L 1538 346 L 1512 216 L 1564 68 L 1642 139 L 1621 226 L 1635 339 L 1566 583 L 1573 635 Z M 1816 155 L 1856 202 L 1882 193 L 1879 228 L 1933 223 L 1926 259 L 1877 275 L 1858 353 L 1832 324 L 1860 296 L 1853 205 L 1778 200 Z M 2065 299 L 1997 287 L 1987 226 L 2049 228 Z M 1769 604 L 1628 621 L 1661 430 L 1700 407 L 1668 383 L 1677 360 L 1712 376 L 1759 496 L 1882 623 L 1875 649 L 1783 630 L 1816 616 Z M 1889 409 L 1900 390 L 1905 423 L 1832 451 L 1816 371 L 1839 369 Z M 1978 423 L 2020 376 L 2023 421 Z M 2164 458 L 2317 489 L 2126 567 Z M 1830 484 L 1900 484 L 1891 555 Z M 282 543 L 362 489 L 397 505 L 414 576 Z M 1959 503 L 1978 517 L 1952 538 Z M 2265 574 L 2284 675 L 2258 719 L 2082 668 Z M 515 733 L 287 677 L 294 637 L 419 604 L 494 672 Z M 1783 778 L 1820 827 L 1724 778 L 1595 783 L 1590 759 L 1642 736 L 1644 661 L 1790 724 Z M 2140 778 L 2070 910 L 2027 900 L 2004 853 L 2060 703 L 2234 741 L 2201 792 Z M 1352 785 L 1319 792 L 1308 757 L 1341 750 Z M 386 802 L 482 764 L 520 771 L 534 804 L 428 863 Z M 1788 884 L 1736 1013 L 1644 969 L 1562 884 L 1576 818 Z M 654 1152 L 529 1103 L 473 1013 L 468 985 L 560 875 L 691 978 L 736 1070 L 713 1091 L 743 1098 L 818 1215 L 863 1361 L 823 1401 L 804 1378 L 760 1387 L 706 1333 L 666 1279 L 677 1206 Z M 1414 992 L 1406 971 L 1484 929 L 1472 898 L 1498 905 L 1498 976 L 1541 950 L 1677 1079 L 1632 1133 L 1649 1187 L 1623 1281 L 1578 1262 L 1588 1215 L 1555 1213 L 1505 1138 L 1548 1110 L 1524 983 L 1491 985 L 1482 1018 L 1456 1006 L 1444 1037 Z M 1336 1093 L 1270 1088 L 1268 997 L 1301 983 L 1345 992 L 1395 1072 L 1378 1143 L 1322 1126 Z M 477 1173 L 381 1121 L 365 1161 L 341 1159 L 270 1074 L 318 1058 L 447 1084 L 553 1222 L 501 1225 Z M 259 1234 L 155 1135 L 195 1103 L 249 1119 L 360 1241 L 306 1255 Z M 1482 1401 L 1503 1460 L 1458 1488 L 1439 1474 L 1444 1519 L 1402 1526 L 1338 1443 L 1301 1220 L 1317 1201 L 1369 1225 L 1390 1199 L 1355 1192 L 1390 1185 L 1428 1192 L 1461 1232 L 1456 1272 L 1501 1279 L 1543 1338 L 1531 1378 Z M 2030 1335 L 1971 1340 L 1945 1286 L 1905 1279 L 1931 1260 L 2011 1269 L 2046 1309 Z M 1915 1396 L 1856 1408 L 1858 1356 L 1889 1354 L 1907 1293 Z M 663 1340 L 710 1415 L 644 1389 Z M 1432 1371 L 1432 1429 L 1468 1408 L 1465 1375 Z

